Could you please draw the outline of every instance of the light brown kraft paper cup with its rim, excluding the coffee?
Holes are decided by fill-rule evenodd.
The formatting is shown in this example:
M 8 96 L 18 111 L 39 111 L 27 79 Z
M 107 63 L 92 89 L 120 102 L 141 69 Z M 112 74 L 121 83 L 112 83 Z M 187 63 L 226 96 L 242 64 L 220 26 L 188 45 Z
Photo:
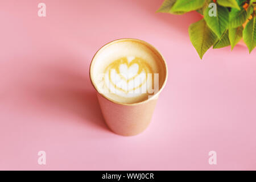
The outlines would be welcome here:
M 137 43 L 141 43 L 144 46 L 147 46 L 158 56 L 160 63 L 164 67 L 164 82 L 162 86 L 159 88 L 159 91 L 151 96 L 147 100 L 142 102 L 137 102 L 133 104 L 126 104 L 118 101 L 111 100 L 110 98 L 104 96 L 98 89 L 93 81 L 93 67 L 94 67 L 94 59 L 95 57 L 101 53 L 103 49 L 108 47 L 111 44 L 115 44 L 122 41 L 133 41 Z M 131 136 L 137 135 L 142 133 L 147 126 L 150 124 L 152 114 L 155 109 L 156 102 L 158 100 L 160 92 L 162 92 L 164 86 L 166 85 L 168 76 L 167 64 L 164 60 L 164 57 L 161 53 L 150 44 L 138 40 L 138 39 L 118 39 L 114 40 L 106 44 L 105 46 L 101 47 L 96 54 L 94 55 L 92 62 L 90 64 L 90 81 L 92 85 L 96 89 L 98 102 L 101 107 L 102 115 L 105 119 L 106 124 L 108 125 L 109 129 L 112 130 L 114 133 L 124 136 Z

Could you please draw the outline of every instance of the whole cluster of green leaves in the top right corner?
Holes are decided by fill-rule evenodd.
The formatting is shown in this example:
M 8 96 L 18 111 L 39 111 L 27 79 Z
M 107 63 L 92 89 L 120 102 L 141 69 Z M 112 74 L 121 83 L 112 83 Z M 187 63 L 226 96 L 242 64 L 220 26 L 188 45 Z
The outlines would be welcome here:
M 197 11 L 203 18 L 189 26 L 189 37 L 202 59 L 210 47 L 231 49 L 243 39 L 249 52 L 256 47 L 256 0 L 165 0 L 157 12 Z

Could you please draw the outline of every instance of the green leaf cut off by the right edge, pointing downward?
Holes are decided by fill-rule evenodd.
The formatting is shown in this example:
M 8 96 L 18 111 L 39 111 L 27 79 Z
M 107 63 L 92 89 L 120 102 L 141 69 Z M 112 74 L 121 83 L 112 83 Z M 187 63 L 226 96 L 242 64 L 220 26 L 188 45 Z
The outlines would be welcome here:
M 256 23 L 255 16 L 251 19 L 243 29 L 243 40 L 249 49 L 249 52 L 253 51 L 256 46 Z

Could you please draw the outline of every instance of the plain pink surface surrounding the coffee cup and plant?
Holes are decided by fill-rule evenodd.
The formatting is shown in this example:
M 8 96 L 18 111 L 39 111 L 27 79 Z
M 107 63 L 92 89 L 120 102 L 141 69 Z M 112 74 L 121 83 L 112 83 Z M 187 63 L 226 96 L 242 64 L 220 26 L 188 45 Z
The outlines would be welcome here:
M 200 15 L 155 13 L 162 2 L 0 2 L 0 169 L 256 169 L 255 50 L 200 60 L 188 36 Z M 151 43 L 168 64 L 151 125 L 135 137 L 109 131 L 89 81 L 94 53 L 119 38 Z

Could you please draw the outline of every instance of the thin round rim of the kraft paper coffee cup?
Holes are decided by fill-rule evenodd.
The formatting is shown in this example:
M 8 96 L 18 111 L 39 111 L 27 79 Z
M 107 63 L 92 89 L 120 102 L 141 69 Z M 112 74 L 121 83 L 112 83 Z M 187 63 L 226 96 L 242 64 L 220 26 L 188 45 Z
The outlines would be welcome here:
M 115 100 L 112 100 L 111 98 L 108 98 L 106 97 L 104 94 L 102 94 L 101 92 L 99 92 L 99 90 L 97 89 L 97 86 L 96 84 L 94 83 L 93 81 L 93 78 L 92 78 L 92 68 L 93 68 L 93 65 L 94 65 L 94 57 L 96 57 L 96 55 L 102 51 L 104 48 L 106 48 L 107 46 L 110 46 L 110 44 L 114 44 L 114 43 L 117 43 L 117 42 L 123 42 L 123 41 L 134 41 L 134 42 L 138 42 L 138 43 L 142 43 L 144 44 L 144 46 L 147 46 L 148 48 L 150 49 L 154 49 L 154 52 L 157 52 L 159 55 L 160 55 L 160 58 L 161 60 L 163 61 L 163 64 L 164 64 L 164 68 L 166 69 L 166 77 L 164 79 L 164 82 L 161 86 L 161 88 L 158 90 L 158 92 L 156 94 L 154 94 L 152 97 L 150 98 L 147 98 L 146 100 L 143 100 L 143 101 L 140 101 L 140 102 L 135 102 L 135 103 L 124 103 L 124 102 L 119 102 L 119 101 L 115 101 Z M 167 69 L 167 63 L 166 63 L 166 60 L 164 59 L 163 55 L 158 51 L 158 49 L 156 49 L 154 46 L 152 46 L 150 43 L 147 43 L 146 41 L 144 40 L 140 40 L 140 39 L 134 39 L 134 38 L 122 38 L 122 39 L 115 39 L 109 43 L 106 43 L 104 46 L 102 46 L 101 48 L 98 49 L 98 51 L 94 54 L 93 58 L 92 58 L 92 61 L 90 62 L 90 68 L 89 68 L 89 76 L 90 76 L 90 82 L 92 83 L 94 89 L 96 90 L 96 92 L 98 94 L 100 94 L 102 97 L 104 97 L 106 100 L 114 103 L 114 104 L 118 104 L 118 105 L 126 105 L 126 106 L 133 106 L 133 105 L 140 105 L 140 104 L 144 104 L 146 102 L 149 102 L 151 100 L 155 100 L 157 99 L 158 95 L 160 92 L 162 92 L 164 86 L 166 85 L 166 82 L 167 82 L 167 78 L 168 78 L 168 69 Z

